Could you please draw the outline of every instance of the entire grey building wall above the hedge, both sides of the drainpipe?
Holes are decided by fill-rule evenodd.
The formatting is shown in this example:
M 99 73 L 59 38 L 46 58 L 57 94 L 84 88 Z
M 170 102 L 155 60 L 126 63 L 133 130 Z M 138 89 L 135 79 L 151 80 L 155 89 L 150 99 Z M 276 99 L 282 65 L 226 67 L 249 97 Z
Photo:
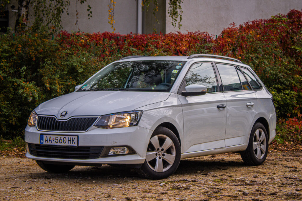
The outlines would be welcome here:
M 108 24 L 108 0 L 88 0 L 92 7 L 93 17 L 88 20 L 87 3 L 77 8 L 79 11 L 79 21 L 76 26 L 76 1 L 70 0 L 69 15 L 62 15 L 63 30 L 93 32 L 112 32 Z M 16 0 L 11 1 L 10 5 L 15 5 L 18 9 Z M 137 33 L 137 0 L 115 0 L 116 7 L 114 18 L 116 33 Z M 156 24 L 157 32 L 170 33 L 179 31 L 171 24 L 171 18 L 167 12 L 169 0 L 158 0 L 159 10 L 156 18 L 160 24 Z M 9 26 L 14 28 L 16 12 L 12 12 L 10 5 Z M 302 0 L 183 0 L 182 3 L 182 27 L 181 32 L 188 31 L 207 31 L 213 35 L 219 35 L 221 31 L 228 27 L 230 23 L 236 25 L 243 24 L 249 20 L 266 19 L 278 13 L 286 14 L 291 9 L 302 9 Z M 149 12 L 143 11 L 143 33 L 153 32 L 155 23 L 152 14 L 153 5 L 150 5 Z M 32 12 L 30 15 L 32 16 Z M 29 20 L 33 20 L 29 17 Z M 166 21 L 166 22 L 165 22 Z

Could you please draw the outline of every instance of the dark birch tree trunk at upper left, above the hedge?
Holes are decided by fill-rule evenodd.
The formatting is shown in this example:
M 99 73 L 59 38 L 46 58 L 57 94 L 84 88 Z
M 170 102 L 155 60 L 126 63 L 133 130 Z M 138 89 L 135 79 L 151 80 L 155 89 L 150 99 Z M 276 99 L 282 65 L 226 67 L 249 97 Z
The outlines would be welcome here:
M 18 0 L 18 16 L 15 24 L 15 33 L 25 29 L 28 20 L 28 6 L 31 0 Z

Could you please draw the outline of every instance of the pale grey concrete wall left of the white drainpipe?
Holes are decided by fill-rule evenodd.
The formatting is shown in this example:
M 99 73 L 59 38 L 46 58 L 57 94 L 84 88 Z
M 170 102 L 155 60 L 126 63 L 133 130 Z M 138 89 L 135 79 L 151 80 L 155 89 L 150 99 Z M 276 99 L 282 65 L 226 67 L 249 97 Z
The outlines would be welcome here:
M 127 34 L 137 33 L 137 0 L 114 0 L 116 7 L 114 9 L 114 27 L 116 33 Z M 77 5 L 76 5 L 77 2 Z M 87 5 L 92 8 L 92 18 L 88 20 Z M 15 5 L 15 9 L 18 9 L 18 3 L 16 0 L 11 1 L 10 5 Z M 9 12 L 9 26 L 14 28 L 17 13 L 13 12 L 8 6 Z M 79 12 L 78 25 L 76 23 L 76 7 Z M 88 33 L 93 32 L 112 32 L 111 25 L 108 23 L 108 1 L 105 0 L 87 0 L 87 3 L 80 4 L 78 0 L 70 0 L 70 6 L 68 8 L 69 15 L 62 14 L 62 26 L 63 30 L 67 30 L 69 33 L 72 31 L 83 31 Z M 33 9 L 30 8 L 29 21 L 33 21 Z

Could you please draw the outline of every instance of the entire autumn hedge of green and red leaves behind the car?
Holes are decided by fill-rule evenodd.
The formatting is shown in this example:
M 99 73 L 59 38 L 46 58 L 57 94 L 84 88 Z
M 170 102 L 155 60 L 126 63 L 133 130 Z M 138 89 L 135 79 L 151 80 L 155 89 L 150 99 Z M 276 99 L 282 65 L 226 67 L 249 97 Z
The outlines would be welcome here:
M 130 55 L 208 53 L 237 58 L 250 65 L 272 93 L 279 131 L 297 132 L 297 127 L 285 125 L 301 125 L 296 118 L 302 113 L 301 11 L 232 24 L 217 39 L 206 32 L 62 31 L 54 39 L 50 33 L 35 24 L 18 36 L 0 36 L 0 134 L 4 138 L 20 135 L 28 115 L 41 102 L 72 92 L 103 66 Z

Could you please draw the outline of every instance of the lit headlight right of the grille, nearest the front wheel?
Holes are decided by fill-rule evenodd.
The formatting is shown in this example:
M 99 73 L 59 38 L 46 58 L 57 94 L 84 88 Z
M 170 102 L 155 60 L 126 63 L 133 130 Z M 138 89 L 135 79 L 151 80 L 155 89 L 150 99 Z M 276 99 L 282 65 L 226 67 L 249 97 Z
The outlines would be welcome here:
M 120 112 L 111 115 L 103 115 L 94 124 L 99 128 L 120 128 L 128 126 L 136 126 L 140 121 L 143 111 Z

